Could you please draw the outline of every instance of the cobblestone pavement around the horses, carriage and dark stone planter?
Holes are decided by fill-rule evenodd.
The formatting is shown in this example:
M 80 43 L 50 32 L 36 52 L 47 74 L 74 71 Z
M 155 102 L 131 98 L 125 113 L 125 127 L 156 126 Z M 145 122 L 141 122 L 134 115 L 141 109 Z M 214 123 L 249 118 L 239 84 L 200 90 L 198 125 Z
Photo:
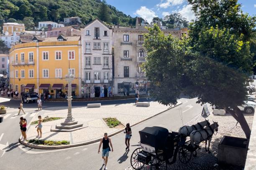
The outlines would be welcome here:
M 253 114 L 245 114 L 246 120 L 251 128 L 253 121 Z M 202 142 L 200 150 L 197 150 L 197 157 L 192 157 L 189 163 L 183 164 L 179 161 L 177 156 L 177 161 L 173 165 L 168 165 L 167 170 L 243 170 L 243 168 L 230 166 L 230 165 L 218 165 L 218 144 L 224 135 L 234 136 L 239 138 L 245 138 L 243 130 L 241 129 L 240 124 L 236 125 L 236 120 L 230 115 L 226 114 L 225 116 L 213 115 L 210 114 L 208 117 L 202 117 L 198 115 L 186 125 L 194 125 L 197 122 L 205 120 L 205 118 L 212 124 L 212 121 L 218 122 L 218 133 L 213 135 L 210 151 L 211 153 L 205 152 L 205 143 Z M 189 139 L 187 139 L 189 140 Z M 207 144 L 208 145 L 208 144 Z M 127 167 L 125 170 L 133 170 L 133 168 Z M 143 167 L 141 170 L 150 170 L 150 166 Z

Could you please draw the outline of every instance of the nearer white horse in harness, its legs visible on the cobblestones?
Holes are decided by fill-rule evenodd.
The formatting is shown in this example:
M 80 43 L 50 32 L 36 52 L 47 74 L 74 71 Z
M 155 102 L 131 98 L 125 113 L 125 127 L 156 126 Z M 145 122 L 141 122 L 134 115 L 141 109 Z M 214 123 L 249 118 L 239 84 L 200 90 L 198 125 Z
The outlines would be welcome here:
M 210 142 L 212 140 L 212 135 L 214 131 L 218 132 L 218 122 L 213 122 L 212 125 L 205 127 L 202 130 L 194 130 L 190 134 L 190 145 L 195 148 L 196 145 L 198 146 L 199 143 L 202 141 L 205 141 L 205 151 L 210 153 Z M 208 140 L 208 150 L 206 149 L 207 145 L 207 140 Z

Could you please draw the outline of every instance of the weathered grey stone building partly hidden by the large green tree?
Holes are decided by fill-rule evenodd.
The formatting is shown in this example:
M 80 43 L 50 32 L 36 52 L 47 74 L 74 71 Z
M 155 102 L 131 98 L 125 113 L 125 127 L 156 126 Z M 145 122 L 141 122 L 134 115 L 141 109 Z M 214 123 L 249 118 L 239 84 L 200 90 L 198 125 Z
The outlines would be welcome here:
M 165 35 L 180 37 L 181 30 L 162 30 Z M 113 28 L 114 41 L 114 94 L 134 95 L 138 90 L 146 94 L 150 82 L 143 72 L 142 63 L 146 60 L 146 49 L 143 47 L 145 26 L 136 22 L 136 28 Z

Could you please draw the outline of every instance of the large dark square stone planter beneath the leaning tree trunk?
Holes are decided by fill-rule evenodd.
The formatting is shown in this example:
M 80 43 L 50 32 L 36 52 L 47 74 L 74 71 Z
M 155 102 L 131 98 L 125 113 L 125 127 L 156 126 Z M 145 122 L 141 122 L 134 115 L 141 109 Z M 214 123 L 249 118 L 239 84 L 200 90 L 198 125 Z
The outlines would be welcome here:
M 247 150 L 246 138 L 223 136 L 218 145 L 218 163 L 244 167 Z

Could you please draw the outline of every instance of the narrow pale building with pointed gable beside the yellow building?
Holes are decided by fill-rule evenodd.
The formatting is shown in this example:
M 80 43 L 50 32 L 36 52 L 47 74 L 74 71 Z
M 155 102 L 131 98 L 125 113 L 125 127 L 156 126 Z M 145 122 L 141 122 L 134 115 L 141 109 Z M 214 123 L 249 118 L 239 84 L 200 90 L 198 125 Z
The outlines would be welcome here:
M 112 29 L 99 19 L 81 29 L 82 97 L 112 94 Z

